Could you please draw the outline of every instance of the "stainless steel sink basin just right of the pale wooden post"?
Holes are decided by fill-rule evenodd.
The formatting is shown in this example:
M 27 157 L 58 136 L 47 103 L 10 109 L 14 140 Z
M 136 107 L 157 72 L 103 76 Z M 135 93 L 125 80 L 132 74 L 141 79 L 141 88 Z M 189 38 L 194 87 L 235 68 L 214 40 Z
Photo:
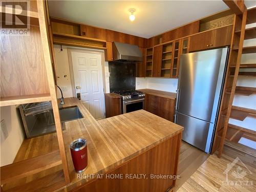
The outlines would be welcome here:
M 77 106 L 73 106 L 71 108 L 60 108 L 59 116 L 61 122 L 83 118 Z

